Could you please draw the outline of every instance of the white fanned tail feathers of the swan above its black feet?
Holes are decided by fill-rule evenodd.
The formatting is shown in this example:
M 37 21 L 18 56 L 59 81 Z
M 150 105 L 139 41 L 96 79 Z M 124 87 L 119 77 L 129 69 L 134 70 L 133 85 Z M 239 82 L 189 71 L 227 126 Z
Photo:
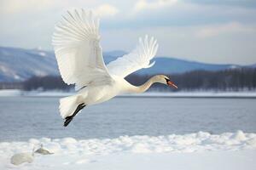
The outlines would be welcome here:
M 68 96 L 66 98 L 60 99 L 60 113 L 61 117 L 65 119 L 67 116 L 72 116 L 73 111 L 75 111 L 76 107 L 78 106 L 78 95 Z

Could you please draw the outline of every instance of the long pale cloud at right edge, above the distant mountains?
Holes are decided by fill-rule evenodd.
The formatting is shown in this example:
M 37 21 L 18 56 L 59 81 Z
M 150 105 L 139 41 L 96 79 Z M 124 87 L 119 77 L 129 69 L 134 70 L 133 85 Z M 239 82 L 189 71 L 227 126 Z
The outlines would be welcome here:
M 204 26 L 199 31 L 195 32 L 196 37 L 207 38 L 207 37 L 217 37 L 222 34 L 231 34 L 231 33 L 239 33 L 239 32 L 252 32 L 256 31 L 255 27 L 252 26 L 244 26 L 238 22 L 230 22 L 223 25 L 215 25 L 215 26 Z

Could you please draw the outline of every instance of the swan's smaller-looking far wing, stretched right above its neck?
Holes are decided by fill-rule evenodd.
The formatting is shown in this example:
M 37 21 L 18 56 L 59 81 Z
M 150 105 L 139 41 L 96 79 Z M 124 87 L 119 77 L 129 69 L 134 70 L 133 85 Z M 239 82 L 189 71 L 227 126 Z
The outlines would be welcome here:
M 157 48 L 158 44 L 154 37 L 151 37 L 150 40 L 148 36 L 144 39 L 140 38 L 137 48 L 130 54 L 125 54 L 107 65 L 108 72 L 110 75 L 126 77 L 134 71 L 151 67 L 154 62 L 150 64 L 150 59 L 154 58 Z

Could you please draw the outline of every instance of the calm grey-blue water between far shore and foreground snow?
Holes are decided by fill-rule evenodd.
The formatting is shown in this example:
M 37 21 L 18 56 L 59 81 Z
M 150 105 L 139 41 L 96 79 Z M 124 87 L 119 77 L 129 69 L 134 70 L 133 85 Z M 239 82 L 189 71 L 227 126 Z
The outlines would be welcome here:
M 171 133 L 256 133 L 256 99 L 115 98 L 94 105 L 68 127 L 59 98 L 1 97 L 0 141 L 31 138 L 114 138 Z

